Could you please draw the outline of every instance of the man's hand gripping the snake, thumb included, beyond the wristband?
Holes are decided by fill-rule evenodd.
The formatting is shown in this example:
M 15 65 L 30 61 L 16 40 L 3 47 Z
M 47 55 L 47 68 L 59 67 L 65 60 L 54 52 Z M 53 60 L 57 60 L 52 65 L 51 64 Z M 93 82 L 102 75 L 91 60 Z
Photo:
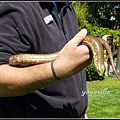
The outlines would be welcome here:
M 74 75 L 91 63 L 91 50 L 81 44 L 86 35 L 87 30 L 82 29 L 59 52 L 59 57 L 54 61 L 54 69 L 59 78 Z

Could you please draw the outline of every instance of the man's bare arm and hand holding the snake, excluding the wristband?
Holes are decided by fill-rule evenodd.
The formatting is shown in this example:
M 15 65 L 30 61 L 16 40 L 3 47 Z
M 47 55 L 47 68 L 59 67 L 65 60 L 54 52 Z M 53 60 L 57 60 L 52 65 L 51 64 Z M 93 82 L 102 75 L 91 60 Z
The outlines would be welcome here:
M 90 50 L 80 42 L 86 36 L 84 29 L 60 51 L 54 61 L 56 74 L 60 78 L 69 77 L 90 64 Z M 67 63 L 67 64 L 66 64 Z M 0 96 L 20 96 L 55 82 L 50 63 L 17 68 L 4 64 L 0 66 Z

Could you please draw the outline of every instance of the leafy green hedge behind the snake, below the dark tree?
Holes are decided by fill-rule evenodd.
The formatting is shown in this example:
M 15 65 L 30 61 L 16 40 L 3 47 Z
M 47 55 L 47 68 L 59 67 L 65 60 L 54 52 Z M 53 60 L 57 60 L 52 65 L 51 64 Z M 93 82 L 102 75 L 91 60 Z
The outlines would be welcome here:
M 93 27 L 90 33 L 94 37 L 102 37 L 103 35 L 112 35 L 113 42 L 118 46 L 118 42 L 120 40 L 120 30 L 112 30 L 109 28 L 103 27 Z M 106 56 L 106 52 L 104 53 L 104 57 Z M 87 81 L 92 80 L 103 80 L 105 77 L 105 71 L 103 76 L 99 76 L 96 72 L 96 68 L 94 66 L 94 62 L 92 62 L 89 66 L 86 67 Z

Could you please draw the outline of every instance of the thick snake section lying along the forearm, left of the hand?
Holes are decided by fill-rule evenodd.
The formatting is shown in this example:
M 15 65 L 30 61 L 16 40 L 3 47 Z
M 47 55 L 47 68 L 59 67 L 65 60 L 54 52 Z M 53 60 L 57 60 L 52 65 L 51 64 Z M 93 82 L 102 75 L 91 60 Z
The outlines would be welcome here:
M 9 58 L 9 65 L 12 66 L 30 66 L 54 61 L 59 52 L 51 54 L 17 54 Z

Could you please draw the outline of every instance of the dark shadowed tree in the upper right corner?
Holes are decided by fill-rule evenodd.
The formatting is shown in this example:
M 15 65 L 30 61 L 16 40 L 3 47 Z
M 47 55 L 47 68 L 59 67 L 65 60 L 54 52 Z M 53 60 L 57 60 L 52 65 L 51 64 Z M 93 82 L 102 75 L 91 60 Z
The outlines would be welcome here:
M 120 29 L 120 2 L 88 2 L 89 14 L 92 14 L 91 24 L 95 22 L 100 27 Z

